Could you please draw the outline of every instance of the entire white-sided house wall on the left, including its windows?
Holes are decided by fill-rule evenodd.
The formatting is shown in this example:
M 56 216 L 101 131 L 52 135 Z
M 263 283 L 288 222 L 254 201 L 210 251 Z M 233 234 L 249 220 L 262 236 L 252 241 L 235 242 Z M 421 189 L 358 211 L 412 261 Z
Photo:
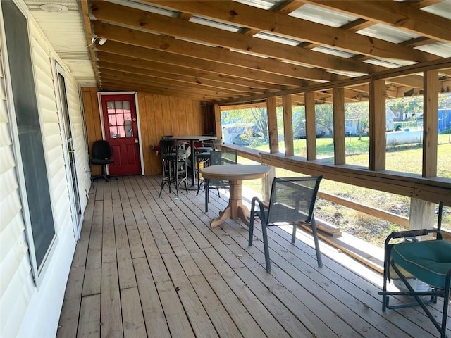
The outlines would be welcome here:
M 90 186 L 80 94 L 27 7 L 1 8 L 0 337 L 55 337 Z

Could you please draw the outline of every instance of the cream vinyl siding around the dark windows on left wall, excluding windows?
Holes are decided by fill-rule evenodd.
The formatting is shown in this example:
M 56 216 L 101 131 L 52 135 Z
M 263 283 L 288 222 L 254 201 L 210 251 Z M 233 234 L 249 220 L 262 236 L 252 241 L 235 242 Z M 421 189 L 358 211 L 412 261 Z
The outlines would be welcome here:
M 63 153 L 65 140 L 61 135 L 56 104 L 54 58 L 58 57 L 32 20 L 29 21 L 29 29 L 56 241 L 52 244 L 52 252 L 47 258 L 42 276 L 39 276 L 42 278 L 39 287 L 36 287 L 25 237 L 24 206 L 20 196 L 24 184 L 18 178 L 20 154 L 15 154 L 16 147 L 13 146 L 17 144 L 17 135 L 14 134 L 16 120 L 13 112 L 8 112 L 6 105 L 6 100 L 11 97 L 5 94 L 7 79 L 2 66 L 8 65 L 4 65 L 4 51 L 0 50 L 0 337 L 54 337 L 75 250 Z M 3 44 L 4 42 L 0 48 Z M 89 175 L 85 173 L 89 163 L 78 86 L 69 72 L 66 73 L 66 86 L 75 139 L 81 208 L 84 211 L 90 186 Z M 23 197 L 26 199 L 26 196 Z

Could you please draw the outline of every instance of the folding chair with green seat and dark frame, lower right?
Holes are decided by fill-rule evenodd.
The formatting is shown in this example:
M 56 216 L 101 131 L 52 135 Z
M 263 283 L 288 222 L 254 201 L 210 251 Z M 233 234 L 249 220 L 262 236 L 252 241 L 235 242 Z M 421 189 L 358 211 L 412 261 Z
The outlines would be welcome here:
M 440 232 L 443 202 L 438 207 L 437 229 L 407 230 L 392 232 L 385 239 L 385 258 L 383 269 L 382 311 L 387 308 L 407 308 L 421 306 L 433 325 L 446 337 L 447 312 L 450 301 L 451 280 L 451 242 L 443 239 Z M 435 239 L 419 241 L 421 236 L 435 234 Z M 404 239 L 395 242 L 393 239 Z M 387 291 L 390 280 L 402 282 L 400 291 Z M 426 287 L 424 287 L 426 286 Z M 411 296 L 415 301 L 390 305 L 390 296 Z M 430 296 L 424 299 L 424 296 Z M 427 304 L 437 303 L 443 297 L 441 323 L 434 318 Z M 412 299 L 411 299 L 412 300 Z

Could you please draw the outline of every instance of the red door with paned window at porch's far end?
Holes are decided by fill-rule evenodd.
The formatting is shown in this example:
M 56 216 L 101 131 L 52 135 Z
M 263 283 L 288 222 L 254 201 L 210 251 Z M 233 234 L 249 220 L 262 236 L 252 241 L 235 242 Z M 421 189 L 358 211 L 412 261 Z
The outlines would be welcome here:
M 113 148 L 110 175 L 141 173 L 135 95 L 101 95 L 106 140 Z

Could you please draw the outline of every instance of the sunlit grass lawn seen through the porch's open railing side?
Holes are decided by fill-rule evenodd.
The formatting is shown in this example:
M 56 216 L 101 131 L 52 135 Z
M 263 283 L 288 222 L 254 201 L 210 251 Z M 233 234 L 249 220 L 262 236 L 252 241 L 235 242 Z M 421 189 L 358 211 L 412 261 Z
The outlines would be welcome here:
M 369 161 L 369 138 L 364 137 L 361 141 L 357 137 L 347 137 L 347 158 L 346 163 L 352 165 L 360 165 L 364 168 L 368 167 Z M 283 149 L 283 142 L 279 143 L 280 149 Z M 302 149 L 305 148 L 304 139 L 296 139 L 294 141 L 295 151 L 298 156 L 302 155 Z M 267 149 L 265 146 L 257 147 L 257 149 Z M 319 157 L 333 158 L 333 143 L 330 138 L 322 138 L 316 140 L 316 149 Z M 349 149 L 349 150 L 348 150 Z M 305 156 L 305 155 L 304 155 Z M 400 173 L 421 174 L 422 148 L 421 145 L 397 146 L 388 149 L 385 157 L 386 168 L 388 170 L 399 171 Z M 251 164 L 253 161 L 247 158 L 238 158 L 238 163 Z M 277 177 L 297 176 L 299 173 L 290 172 L 282 168 L 276 168 Z M 451 178 L 451 143 L 450 135 L 439 135 L 438 138 L 438 177 Z M 261 180 L 247 180 L 243 182 L 246 187 L 261 191 Z M 372 189 L 353 186 L 330 180 L 321 182 L 320 190 L 328 194 L 334 194 L 345 199 L 350 199 L 360 204 L 373 206 L 385 211 L 390 211 L 399 215 L 408 216 L 410 208 L 410 198 L 390 194 L 388 192 L 378 192 Z M 354 211 L 344 206 L 333 204 L 329 201 L 319 199 L 317 201 L 316 215 L 322 220 L 326 220 L 333 225 L 339 226 L 340 229 L 349 234 L 366 240 L 372 244 L 383 246 L 383 240 L 392 231 L 401 230 L 401 228 L 393 223 L 373 218 L 364 213 Z M 451 228 L 451 208 L 445 207 L 443 215 L 443 227 Z

